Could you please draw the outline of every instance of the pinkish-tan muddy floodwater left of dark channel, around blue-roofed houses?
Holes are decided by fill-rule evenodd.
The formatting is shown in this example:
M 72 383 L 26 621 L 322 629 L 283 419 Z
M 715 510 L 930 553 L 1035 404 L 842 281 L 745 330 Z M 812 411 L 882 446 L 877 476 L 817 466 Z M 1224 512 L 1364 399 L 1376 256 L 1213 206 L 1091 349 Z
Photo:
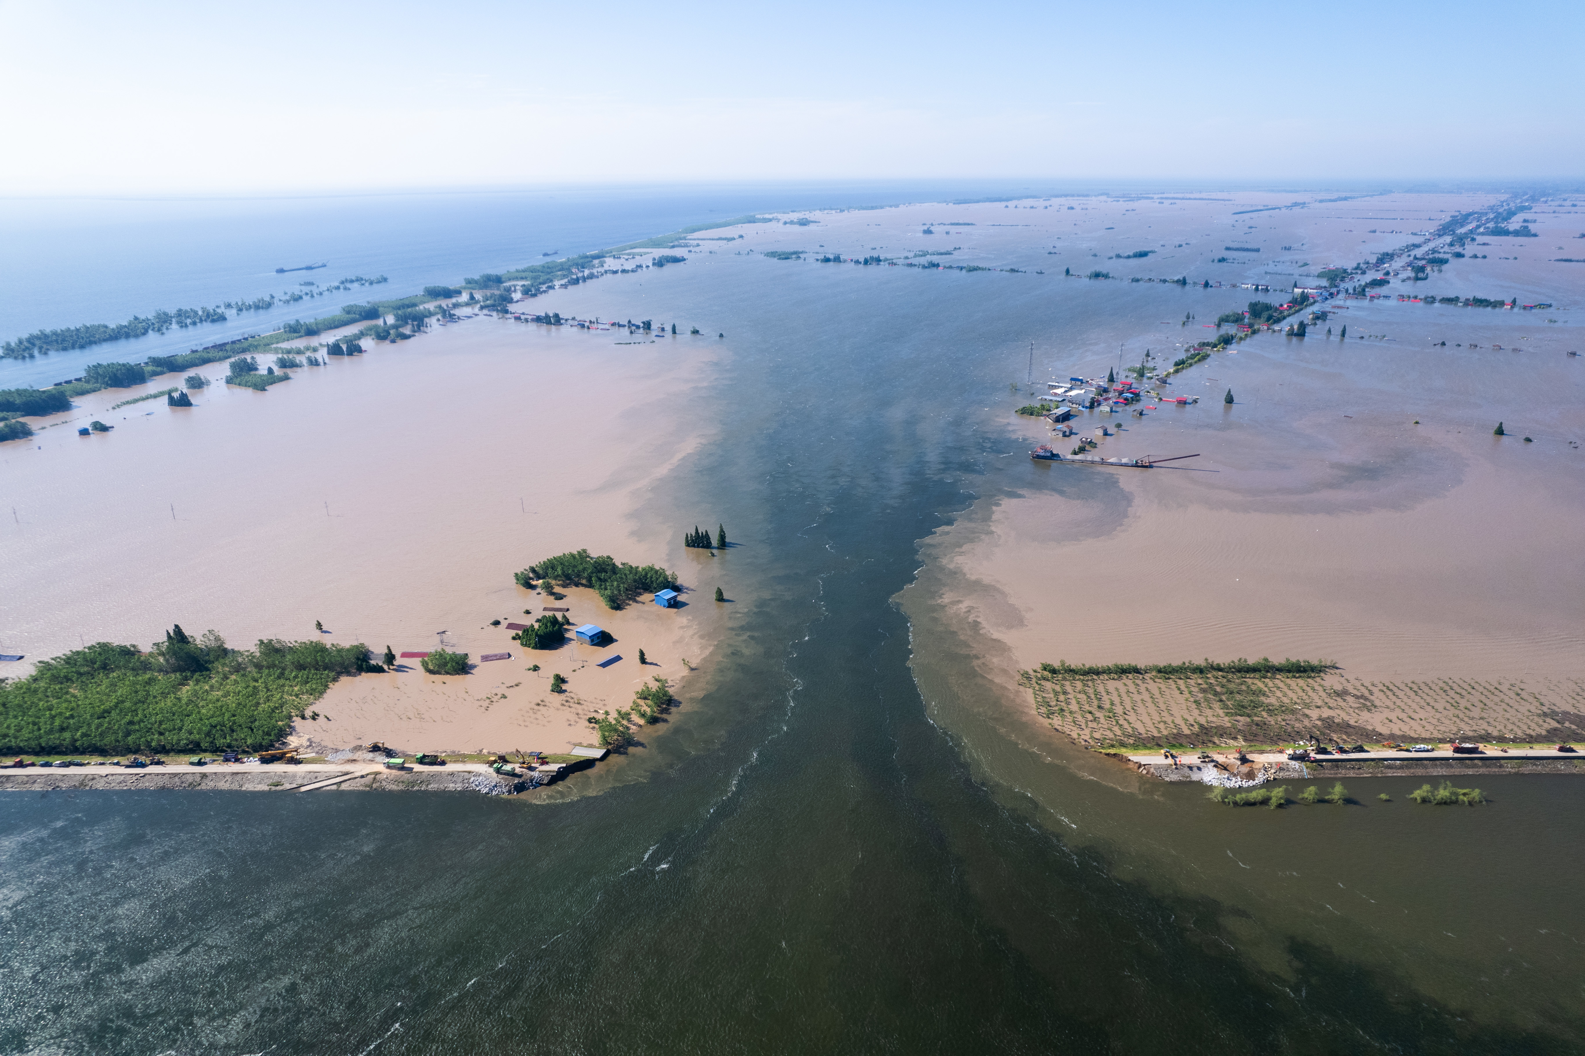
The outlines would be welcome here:
M 605 293 L 624 301 L 620 284 Z M 724 352 L 713 336 L 621 338 L 476 317 L 263 393 L 214 385 L 192 409 L 109 414 L 119 393 L 86 396 L 60 420 L 97 415 L 114 433 L 41 430 L 6 452 L 17 514 L 0 609 L 6 650 L 29 656 L 6 674 L 82 641 L 147 647 L 176 622 L 250 644 L 314 637 L 317 620 L 328 641 L 376 655 L 444 641 L 476 661 L 512 656 L 461 677 L 409 661 L 342 679 L 301 737 L 436 753 L 586 742 L 591 709 L 626 706 L 655 674 L 683 682 L 682 660 L 702 660 L 724 618 L 697 603 L 715 582 L 683 553 L 686 496 L 659 488 L 707 436 L 697 379 Z M 533 653 L 491 626 L 544 607 L 515 571 L 583 547 L 675 569 L 694 604 L 610 612 L 571 591 L 558 604 L 610 629 L 604 650 Z M 642 669 L 639 649 L 653 661 Z M 569 694 L 548 693 L 552 672 Z

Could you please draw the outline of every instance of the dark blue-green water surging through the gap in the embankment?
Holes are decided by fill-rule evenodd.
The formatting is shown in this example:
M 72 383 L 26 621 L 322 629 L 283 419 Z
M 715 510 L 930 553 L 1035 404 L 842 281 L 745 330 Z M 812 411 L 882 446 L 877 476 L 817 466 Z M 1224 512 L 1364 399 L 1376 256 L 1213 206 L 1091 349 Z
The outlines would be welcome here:
M 648 301 L 756 338 L 648 511 L 739 541 L 672 728 L 539 801 L 3 796 L 0 1050 L 1577 1051 L 1585 785 L 1225 810 L 999 737 L 899 607 L 1019 487 L 983 407 L 1030 328 L 1160 290 L 761 265 Z

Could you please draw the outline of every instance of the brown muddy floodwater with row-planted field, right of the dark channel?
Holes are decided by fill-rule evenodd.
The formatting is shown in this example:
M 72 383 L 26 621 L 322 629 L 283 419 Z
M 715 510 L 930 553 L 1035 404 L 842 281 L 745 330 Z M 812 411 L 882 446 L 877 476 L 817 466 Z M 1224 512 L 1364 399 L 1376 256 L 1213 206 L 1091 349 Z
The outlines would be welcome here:
M 1482 411 L 1487 368 L 1441 349 L 1322 373 L 1262 338 L 1230 360 L 1201 373 L 1233 377 L 1239 403 L 1168 409 L 1106 441 L 1117 455 L 1203 452 L 1195 471 L 1021 465 L 1021 490 L 926 544 L 921 587 L 1010 712 L 1087 747 L 1580 739 L 1585 566 L 1568 526 L 1585 495 L 1560 487 L 1577 453 L 1461 428 L 1515 404 Z M 1415 423 L 1433 412 L 1434 430 Z M 1241 656 L 1339 669 L 1038 675 L 1064 660 Z

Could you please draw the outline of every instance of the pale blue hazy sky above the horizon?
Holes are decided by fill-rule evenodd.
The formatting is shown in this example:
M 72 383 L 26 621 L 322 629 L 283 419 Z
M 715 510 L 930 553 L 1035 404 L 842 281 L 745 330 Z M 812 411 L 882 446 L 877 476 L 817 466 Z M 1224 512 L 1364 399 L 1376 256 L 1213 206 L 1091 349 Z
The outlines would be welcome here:
M 0 193 L 1572 179 L 1582 30 L 1536 2 L 0 0 Z

